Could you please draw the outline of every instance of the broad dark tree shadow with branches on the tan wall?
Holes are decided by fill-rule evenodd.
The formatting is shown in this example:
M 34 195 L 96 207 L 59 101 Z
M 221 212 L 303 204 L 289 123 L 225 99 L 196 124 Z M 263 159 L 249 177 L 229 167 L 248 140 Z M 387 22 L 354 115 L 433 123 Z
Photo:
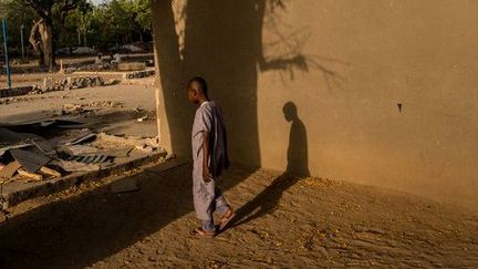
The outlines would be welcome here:
M 153 3 L 162 105 L 167 118 L 162 127 L 179 156 L 190 156 L 195 107 L 186 102 L 184 90 L 190 76 L 205 76 L 211 97 L 224 107 L 231 161 L 254 167 L 261 164 L 258 72 L 285 71 L 293 79 L 294 70 L 318 69 L 328 85 L 343 80 L 339 72 L 321 63 L 323 58 L 301 53 L 306 31 L 290 35 L 278 32 L 277 41 L 263 44 L 263 29 L 281 27 L 270 18 L 287 8 L 283 0 L 188 0 L 180 10 L 174 10 L 167 0 Z M 178 37 L 176 28 L 183 19 Z

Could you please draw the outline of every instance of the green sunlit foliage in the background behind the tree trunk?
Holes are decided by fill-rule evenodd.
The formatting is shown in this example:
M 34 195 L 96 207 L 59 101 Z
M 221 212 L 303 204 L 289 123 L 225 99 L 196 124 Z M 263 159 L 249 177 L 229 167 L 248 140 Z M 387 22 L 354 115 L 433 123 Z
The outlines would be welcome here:
M 106 51 L 118 44 L 152 40 L 150 0 L 111 0 L 100 6 L 90 0 L 0 0 L 12 50 L 20 51 L 21 24 L 25 48 L 30 46 L 30 29 L 43 15 L 28 4 L 32 1 L 37 8 L 51 11 L 56 48 L 87 45 Z M 66 10 L 67 4 L 74 8 Z

